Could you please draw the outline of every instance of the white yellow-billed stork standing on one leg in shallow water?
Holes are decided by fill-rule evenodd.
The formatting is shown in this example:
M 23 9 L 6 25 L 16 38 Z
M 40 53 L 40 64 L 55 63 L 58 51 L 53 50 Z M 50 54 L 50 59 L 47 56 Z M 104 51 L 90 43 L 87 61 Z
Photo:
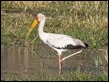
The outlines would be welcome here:
M 29 36 L 30 32 L 34 29 L 34 27 L 37 24 L 39 24 L 38 33 L 39 33 L 39 37 L 41 38 L 41 40 L 45 44 L 47 44 L 48 46 L 50 46 L 51 48 L 53 48 L 54 50 L 56 50 L 58 52 L 58 55 L 59 55 L 59 74 L 61 74 L 62 61 L 73 56 L 73 55 L 81 53 L 82 49 L 87 48 L 88 45 L 86 43 L 83 43 L 81 40 L 76 39 L 76 38 L 72 38 L 71 36 L 68 36 L 68 35 L 53 34 L 53 33 L 44 32 L 43 27 L 45 24 L 45 20 L 46 20 L 45 16 L 43 14 L 39 13 L 36 16 L 36 18 L 34 19 L 32 25 L 31 25 L 31 28 L 28 31 L 26 38 Z M 61 59 L 62 52 L 68 51 L 69 49 L 81 49 L 81 50 Z

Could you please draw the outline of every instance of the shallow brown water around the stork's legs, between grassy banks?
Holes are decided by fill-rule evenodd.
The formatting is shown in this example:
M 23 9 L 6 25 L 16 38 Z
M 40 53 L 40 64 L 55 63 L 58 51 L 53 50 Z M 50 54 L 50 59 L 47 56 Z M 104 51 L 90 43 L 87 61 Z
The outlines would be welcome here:
M 73 52 L 76 50 L 65 52 L 62 57 Z M 86 49 L 63 61 L 63 73 L 75 71 L 78 68 L 81 71 L 100 72 L 107 65 L 104 57 L 106 54 L 105 49 Z M 36 80 L 40 80 L 39 75 L 43 73 L 58 74 L 57 52 L 48 46 L 40 44 L 29 47 L 1 47 L 1 80 L 12 80 L 13 78 L 26 80 L 31 75 L 35 75 Z

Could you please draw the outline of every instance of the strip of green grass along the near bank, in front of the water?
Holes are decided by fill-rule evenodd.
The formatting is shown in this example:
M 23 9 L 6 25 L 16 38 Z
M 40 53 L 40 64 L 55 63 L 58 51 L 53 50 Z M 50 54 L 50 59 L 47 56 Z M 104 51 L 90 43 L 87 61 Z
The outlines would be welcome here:
M 97 68 L 99 70 L 99 68 Z M 19 78 L 13 74 L 6 78 L 6 81 L 108 81 L 108 74 L 106 71 L 94 74 L 96 72 L 83 72 L 80 69 L 71 72 L 64 72 L 62 75 L 47 74 L 44 69 L 39 70 L 39 74 L 24 75 L 23 78 Z

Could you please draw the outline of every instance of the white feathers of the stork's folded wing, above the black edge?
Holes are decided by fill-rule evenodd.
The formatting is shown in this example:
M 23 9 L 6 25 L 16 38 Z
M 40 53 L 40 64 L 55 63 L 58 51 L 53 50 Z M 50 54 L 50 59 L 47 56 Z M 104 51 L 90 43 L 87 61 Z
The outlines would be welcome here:
M 49 37 L 47 38 L 47 43 L 49 46 L 54 46 L 57 48 L 65 48 L 66 46 L 83 46 L 85 47 L 84 43 L 81 42 L 79 39 L 74 39 L 68 35 L 63 34 L 48 34 Z

